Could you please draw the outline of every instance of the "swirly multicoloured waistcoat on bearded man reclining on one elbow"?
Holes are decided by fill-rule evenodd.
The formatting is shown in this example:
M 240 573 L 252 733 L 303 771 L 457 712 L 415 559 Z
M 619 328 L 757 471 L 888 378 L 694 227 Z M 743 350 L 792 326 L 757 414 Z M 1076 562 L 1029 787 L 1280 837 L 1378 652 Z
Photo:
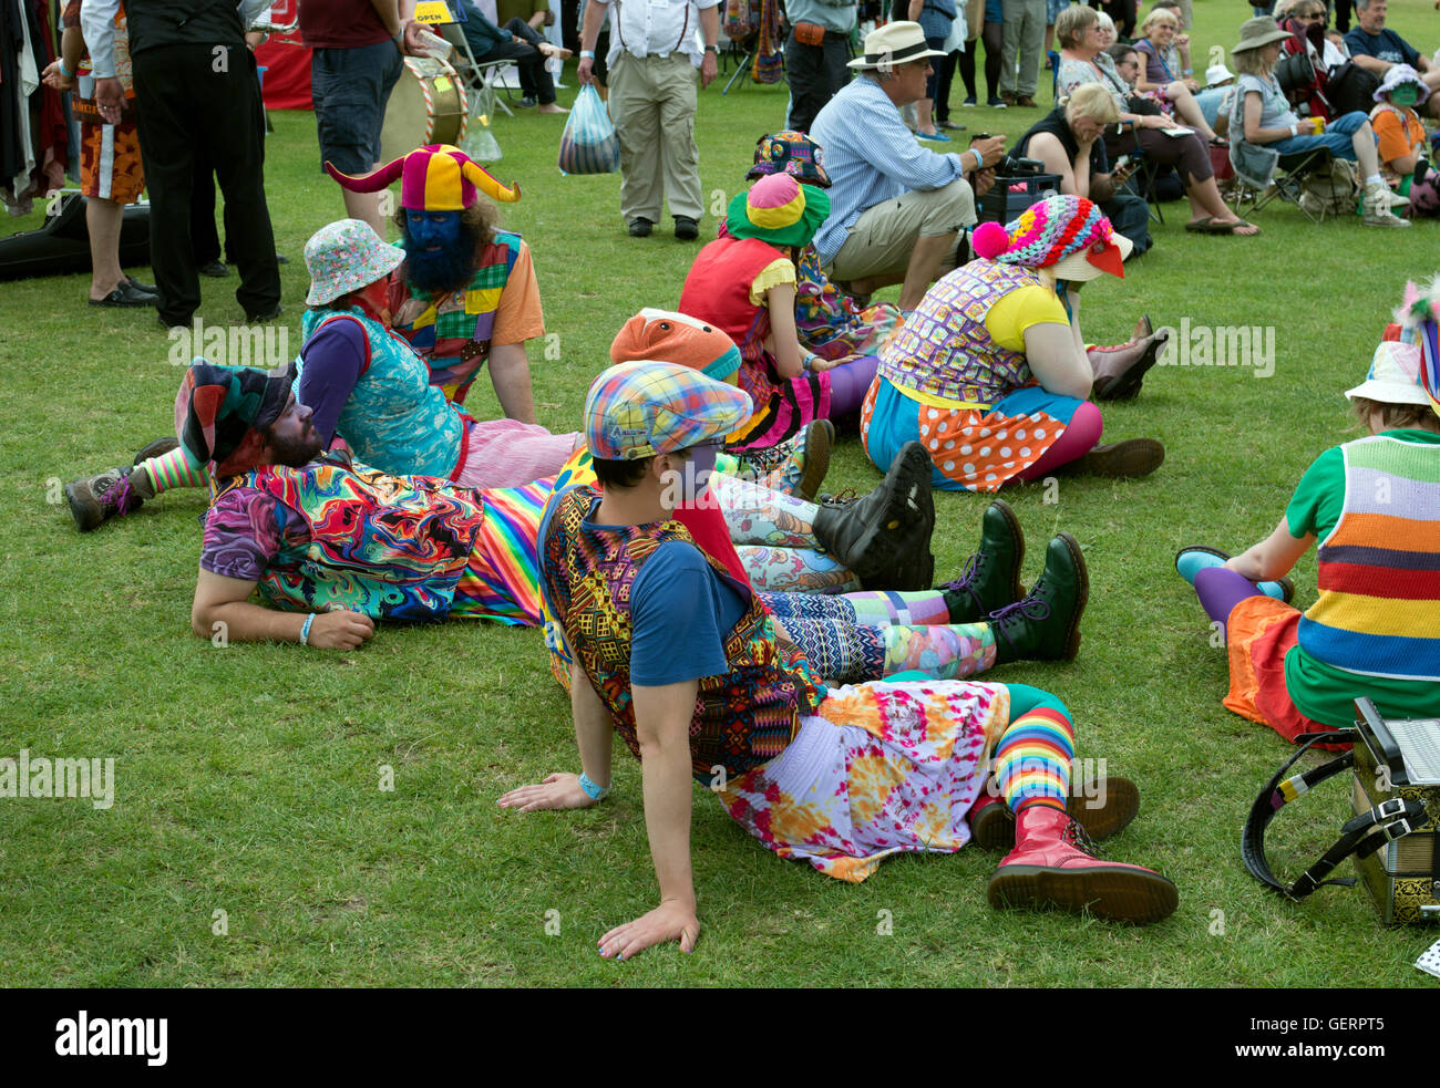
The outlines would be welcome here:
M 215 497 L 236 486 L 274 495 L 276 517 L 298 512 L 310 530 L 297 545 L 281 524 L 279 554 L 259 580 L 261 596 L 287 610 L 444 619 L 485 520 L 478 491 L 350 468 L 333 455 L 302 469 L 268 465 L 230 476 L 216 484 Z

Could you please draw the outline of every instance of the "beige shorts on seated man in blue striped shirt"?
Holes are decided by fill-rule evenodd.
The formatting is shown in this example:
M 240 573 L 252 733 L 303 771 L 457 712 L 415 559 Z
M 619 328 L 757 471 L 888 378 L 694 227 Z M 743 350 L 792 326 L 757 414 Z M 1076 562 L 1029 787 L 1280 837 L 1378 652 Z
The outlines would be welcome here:
M 831 279 L 851 281 L 903 273 L 922 237 L 953 235 L 975 223 L 975 193 L 963 178 L 926 193 L 904 193 L 867 207 L 825 272 Z M 955 268 L 955 253 L 946 253 L 940 272 Z

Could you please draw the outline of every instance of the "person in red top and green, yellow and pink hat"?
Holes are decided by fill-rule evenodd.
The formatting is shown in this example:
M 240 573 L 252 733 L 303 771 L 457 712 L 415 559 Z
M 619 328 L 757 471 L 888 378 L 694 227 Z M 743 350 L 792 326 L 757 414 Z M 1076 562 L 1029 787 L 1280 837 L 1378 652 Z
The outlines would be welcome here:
M 796 258 L 829 214 L 829 197 L 789 174 L 739 193 L 721 237 L 696 255 L 680 312 L 708 321 L 739 345 L 740 387 L 757 406 L 737 446 L 773 446 L 815 419 L 854 413 L 876 377 L 876 357 L 824 358 L 795 328 Z

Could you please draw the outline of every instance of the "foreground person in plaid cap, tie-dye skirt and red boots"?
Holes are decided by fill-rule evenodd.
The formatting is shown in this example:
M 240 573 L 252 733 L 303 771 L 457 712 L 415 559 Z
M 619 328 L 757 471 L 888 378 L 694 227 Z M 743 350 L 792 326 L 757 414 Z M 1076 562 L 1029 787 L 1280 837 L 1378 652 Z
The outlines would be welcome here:
M 592 384 L 585 413 L 602 489 L 572 489 L 546 514 L 543 590 L 575 652 L 580 773 L 550 774 L 498 804 L 521 813 L 598 804 L 611 786 L 612 734 L 639 757 L 660 904 L 605 933 L 599 954 L 626 960 L 670 941 L 696 948 L 693 777 L 779 856 L 858 882 L 890 853 L 965 845 L 992 744 L 998 787 L 1017 815 L 1015 848 L 986 889 L 992 905 L 1168 917 L 1178 904 L 1171 881 L 1071 845 L 1074 727 L 1058 699 L 906 674 L 827 688 L 753 594 L 688 541 L 670 514 L 696 481 L 691 450 L 749 413 L 743 391 L 693 370 L 612 367 Z M 1051 548 L 1071 551 L 1073 541 L 1058 537 Z

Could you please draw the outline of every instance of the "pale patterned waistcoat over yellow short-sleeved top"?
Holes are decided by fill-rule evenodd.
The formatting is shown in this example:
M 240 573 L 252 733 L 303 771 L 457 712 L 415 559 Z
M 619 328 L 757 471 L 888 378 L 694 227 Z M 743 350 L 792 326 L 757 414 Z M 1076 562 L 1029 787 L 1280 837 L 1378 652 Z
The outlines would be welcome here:
M 900 390 L 942 400 L 994 404 L 1034 376 L 1022 351 L 991 340 L 985 315 L 1001 298 L 1041 282 L 1028 268 L 972 260 L 930 288 L 880 351 L 880 377 Z

